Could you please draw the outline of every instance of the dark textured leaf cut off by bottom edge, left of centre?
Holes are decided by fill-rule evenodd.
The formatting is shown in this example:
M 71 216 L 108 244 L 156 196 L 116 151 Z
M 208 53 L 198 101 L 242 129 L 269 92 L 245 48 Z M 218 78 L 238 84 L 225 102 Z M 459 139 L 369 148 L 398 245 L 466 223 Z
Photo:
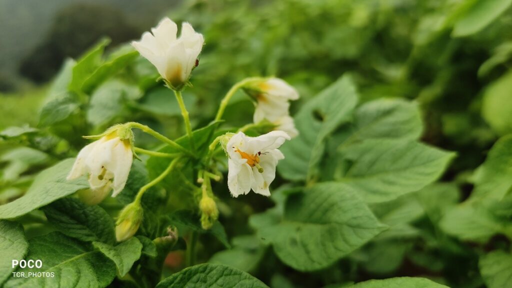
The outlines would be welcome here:
M 200 264 L 186 268 L 158 283 L 156 288 L 247 287 L 268 288 L 250 274 L 221 264 Z

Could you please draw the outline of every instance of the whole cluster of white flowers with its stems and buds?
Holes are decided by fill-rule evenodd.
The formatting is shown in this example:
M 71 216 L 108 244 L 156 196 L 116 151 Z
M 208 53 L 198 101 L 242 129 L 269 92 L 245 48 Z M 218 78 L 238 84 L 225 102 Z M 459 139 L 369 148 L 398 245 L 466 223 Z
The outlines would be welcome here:
M 189 157 L 187 161 L 199 161 L 196 167 L 203 165 L 198 175 L 198 182 L 202 197 L 198 201 L 201 213 L 201 224 L 204 229 L 212 227 L 218 218 L 219 210 L 215 202 L 215 195 L 211 189 L 210 179 L 220 181 L 221 176 L 215 174 L 213 159 L 217 143 L 221 143 L 228 156 L 227 185 L 231 195 L 238 197 L 249 191 L 270 196 L 270 184 L 275 178 L 275 169 L 278 161 L 284 158 L 279 148 L 286 140 L 298 134 L 289 115 L 290 100 L 298 99 L 298 93 L 284 80 L 278 78 L 249 78 L 233 86 L 221 103 L 216 120 L 220 120 L 224 109 L 234 91 L 241 88 L 257 101 L 254 112 L 254 125 L 260 123 L 272 124 L 273 130 L 258 137 L 249 137 L 241 128 L 237 133 L 226 133 L 218 137 L 210 145 L 210 153 L 204 159 L 197 159 L 194 137 L 190 128 L 188 112 L 182 101 L 181 89 L 188 84 L 191 71 L 197 66 L 199 53 L 204 40 L 188 24 L 183 23 L 181 35 L 176 37 L 177 25 L 168 18 L 164 18 L 152 33 L 145 32 L 139 42 L 132 45 L 147 58 L 162 76 L 166 86 L 174 90 L 184 118 L 187 134 L 190 141 L 190 150 L 185 149 L 177 142 L 161 135 L 151 128 L 137 122 L 128 122 L 115 125 L 103 134 L 88 136 L 86 138 L 96 141 L 85 146 L 76 157 L 75 163 L 68 179 L 75 179 L 86 175 L 89 179 L 90 189 L 79 192 L 80 198 L 88 204 L 98 204 L 110 194 L 118 195 L 124 188 L 130 173 L 135 152 L 146 153 L 154 157 L 173 158 L 161 175 L 145 184 L 138 191 L 134 201 L 120 211 L 117 220 L 116 237 L 124 241 L 137 233 L 142 223 L 144 211 L 141 205 L 142 195 L 150 187 L 160 182 L 164 177 L 177 170 L 181 159 Z M 179 151 L 178 153 L 162 153 L 137 148 L 134 145 L 133 128 L 167 143 Z M 204 155 L 204 153 L 203 153 Z M 206 164 L 205 164 L 206 163 Z M 210 172 L 213 171 L 213 172 Z

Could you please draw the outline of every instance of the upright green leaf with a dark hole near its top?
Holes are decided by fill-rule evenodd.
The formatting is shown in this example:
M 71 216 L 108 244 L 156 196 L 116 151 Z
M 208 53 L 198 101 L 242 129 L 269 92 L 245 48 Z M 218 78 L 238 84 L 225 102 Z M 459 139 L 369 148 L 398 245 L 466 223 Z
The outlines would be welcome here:
M 294 181 L 315 178 L 325 151 L 325 138 L 351 120 L 356 104 L 355 86 L 348 76 L 339 78 L 308 101 L 294 117 L 300 134 L 281 147 L 285 159 L 279 162 L 279 173 Z

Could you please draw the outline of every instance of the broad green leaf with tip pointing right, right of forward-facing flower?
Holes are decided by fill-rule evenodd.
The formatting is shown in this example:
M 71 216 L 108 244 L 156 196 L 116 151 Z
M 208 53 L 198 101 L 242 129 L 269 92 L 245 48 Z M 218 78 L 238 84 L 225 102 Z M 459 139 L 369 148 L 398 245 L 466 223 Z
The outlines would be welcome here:
M 383 202 L 418 191 L 444 172 L 455 153 L 410 140 L 369 139 L 342 150 L 353 161 L 340 181 L 367 202 Z

